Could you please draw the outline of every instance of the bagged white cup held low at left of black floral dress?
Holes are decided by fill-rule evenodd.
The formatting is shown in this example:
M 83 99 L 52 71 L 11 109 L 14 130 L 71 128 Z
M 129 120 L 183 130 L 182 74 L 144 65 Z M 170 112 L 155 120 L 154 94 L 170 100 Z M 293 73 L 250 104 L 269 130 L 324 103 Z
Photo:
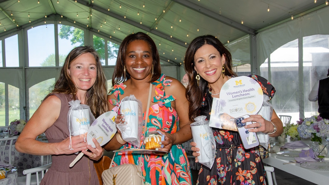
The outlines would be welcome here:
M 208 124 L 193 125 L 191 124 L 193 141 L 196 143 L 196 147 L 200 149 L 197 153 L 199 163 L 212 163 L 214 159 L 211 157 L 211 151 L 213 150 L 213 145 L 211 141 L 211 135 L 213 134 L 212 129 Z

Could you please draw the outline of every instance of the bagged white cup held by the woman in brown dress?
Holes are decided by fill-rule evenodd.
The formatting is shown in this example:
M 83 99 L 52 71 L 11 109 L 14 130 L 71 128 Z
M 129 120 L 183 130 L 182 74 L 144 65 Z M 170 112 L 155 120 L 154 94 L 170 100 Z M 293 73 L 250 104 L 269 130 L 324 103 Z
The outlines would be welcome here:
M 89 108 L 72 110 L 71 112 L 71 135 L 78 136 L 88 132 L 90 127 Z

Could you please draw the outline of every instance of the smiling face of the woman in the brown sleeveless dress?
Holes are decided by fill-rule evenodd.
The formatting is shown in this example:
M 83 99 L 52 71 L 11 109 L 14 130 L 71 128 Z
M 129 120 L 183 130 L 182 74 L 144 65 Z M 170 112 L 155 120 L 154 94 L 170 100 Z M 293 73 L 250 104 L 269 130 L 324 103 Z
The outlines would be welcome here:
M 92 54 L 84 53 L 71 62 L 67 71 L 77 92 L 87 91 L 96 81 L 96 59 Z

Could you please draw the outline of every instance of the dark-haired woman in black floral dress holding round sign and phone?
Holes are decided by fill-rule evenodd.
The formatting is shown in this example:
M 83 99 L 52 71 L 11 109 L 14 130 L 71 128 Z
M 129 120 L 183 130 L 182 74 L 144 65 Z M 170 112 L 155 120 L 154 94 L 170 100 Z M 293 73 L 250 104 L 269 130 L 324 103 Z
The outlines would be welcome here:
M 189 76 L 187 99 L 190 102 L 189 117 L 193 119 L 199 115 L 210 119 L 213 97 L 220 96 L 221 87 L 235 73 L 232 70 L 232 56 L 225 46 L 214 36 L 206 35 L 195 38 L 185 54 L 185 70 Z M 263 93 L 271 98 L 275 89 L 264 78 L 251 75 L 262 87 Z M 242 122 L 253 121 L 245 126 L 251 132 L 268 133 L 276 137 L 283 132 L 281 120 L 273 110 L 271 121 L 260 115 L 250 115 Z M 244 149 L 239 133 L 231 130 L 212 128 L 216 142 L 216 158 L 211 169 L 201 166 L 197 184 L 212 185 L 259 185 L 266 184 L 265 171 L 258 146 Z M 199 154 L 195 143 L 191 145 L 194 156 Z M 197 158 L 196 158 L 197 162 Z

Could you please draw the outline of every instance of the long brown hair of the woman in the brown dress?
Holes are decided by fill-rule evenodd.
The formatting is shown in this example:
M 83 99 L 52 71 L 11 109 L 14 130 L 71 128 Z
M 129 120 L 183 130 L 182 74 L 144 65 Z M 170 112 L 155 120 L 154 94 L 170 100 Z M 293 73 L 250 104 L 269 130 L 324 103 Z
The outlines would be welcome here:
M 90 107 L 92 114 L 97 118 L 101 114 L 108 111 L 107 105 L 107 89 L 106 78 L 103 72 L 102 65 L 99 60 L 99 56 L 92 46 L 79 46 L 70 51 L 63 64 L 60 77 L 54 85 L 54 90 L 51 93 L 65 93 L 71 94 L 73 99 L 76 100 L 77 88 L 74 85 L 68 69 L 71 63 L 82 54 L 90 53 L 96 60 L 97 76 L 94 85 L 87 91 L 86 105 Z

